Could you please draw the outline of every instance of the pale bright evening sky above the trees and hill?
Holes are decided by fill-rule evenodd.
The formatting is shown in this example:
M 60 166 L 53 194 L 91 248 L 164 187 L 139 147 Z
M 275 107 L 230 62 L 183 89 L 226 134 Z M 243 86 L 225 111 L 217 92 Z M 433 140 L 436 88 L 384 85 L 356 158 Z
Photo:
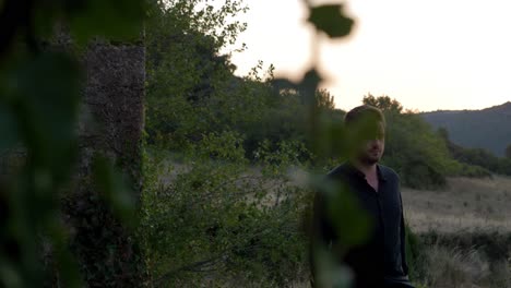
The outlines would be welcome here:
M 314 36 L 302 0 L 245 3 L 249 11 L 237 20 L 248 28 L 236 46 L 248 49 L 231 57 L 238 75 L 262 60 L 297 80 L 310 68 L 317 41 L 323 87 L 341 109 L 360 105 L 368 93 L 419 111 L 511 100 L 511 1 L 331 0 L 356 21 L 341 40 Z

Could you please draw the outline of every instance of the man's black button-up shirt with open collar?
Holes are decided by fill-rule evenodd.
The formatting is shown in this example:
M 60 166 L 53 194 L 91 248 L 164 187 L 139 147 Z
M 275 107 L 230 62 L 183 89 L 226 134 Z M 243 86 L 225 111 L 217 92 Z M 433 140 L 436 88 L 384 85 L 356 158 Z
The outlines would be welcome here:
M 405 260 L 405 230 L 403 205 L 397 175 L 389 167 L 377 165 L 378 192 L 369 185 L 365 175 L 349 163 L 344 163 L 326 176 L 328 181 L 338 183 L 371 219 L 367 241 L 338 255 L 355 273 L 356 287 L 381 287 L 384 277 L 407 275 Z M 338 189 L 337 189 L 338 190 Z M 343 193 L 343 191 L 335 191 Z M 328 193 L 317 193 L 314 200 L 314 238 L 335 253 L 342 247 L 343 231 L 325 213 L 325 204 L 333 199 Z M 335 205 L 342 203 L 335 203 Z M 356 204 L 356 203 L 355 203 Z M 336 227 L 335 229 L 333 227 Z

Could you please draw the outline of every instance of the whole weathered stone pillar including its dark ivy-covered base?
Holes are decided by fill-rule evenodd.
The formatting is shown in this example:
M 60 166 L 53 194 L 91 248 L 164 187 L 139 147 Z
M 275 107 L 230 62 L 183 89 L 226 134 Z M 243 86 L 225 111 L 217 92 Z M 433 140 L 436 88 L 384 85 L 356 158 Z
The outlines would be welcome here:
M 71 248 L 90 287 L 140 287 L 145 269 L 134 233 L 112 216 L 91 179 L 93 157 L 107 156 L 130 176 L 140 199 L 145 48 L 97 41 L 82 61 L 79 184 L 63 200 Z

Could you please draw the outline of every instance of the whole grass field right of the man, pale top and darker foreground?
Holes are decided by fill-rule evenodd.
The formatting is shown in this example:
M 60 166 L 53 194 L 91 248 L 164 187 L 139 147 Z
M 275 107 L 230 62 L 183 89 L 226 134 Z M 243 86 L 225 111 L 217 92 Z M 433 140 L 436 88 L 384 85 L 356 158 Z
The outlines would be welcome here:
M 424 243 L 415 283 L 511 287 L 511 178 L 451 178 L 448 183 L 439 191 L 402 191 L 405 217 Z

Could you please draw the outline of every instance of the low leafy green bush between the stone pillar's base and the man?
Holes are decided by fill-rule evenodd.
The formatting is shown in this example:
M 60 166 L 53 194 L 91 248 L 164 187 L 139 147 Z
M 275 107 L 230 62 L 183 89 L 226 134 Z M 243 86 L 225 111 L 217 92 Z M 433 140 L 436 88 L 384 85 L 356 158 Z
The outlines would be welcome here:
M 143 235 L 157 285 L 193 286 L 205 278 L 219 285 L 241 277 L 281 286 L 299 277 L 306 242 L 298 219 L 308 194 L 280 167 L 300 163 L 283 144 L 276 155 L 262 147 L 264 168 L 254 168 L 241 141 L 233 132 L 212 133 L 182 165 L 157 149 L 147 158 L 150 176 L 166 165 L 174 175 L 167 185 L 146 178 L 143 195 Z

